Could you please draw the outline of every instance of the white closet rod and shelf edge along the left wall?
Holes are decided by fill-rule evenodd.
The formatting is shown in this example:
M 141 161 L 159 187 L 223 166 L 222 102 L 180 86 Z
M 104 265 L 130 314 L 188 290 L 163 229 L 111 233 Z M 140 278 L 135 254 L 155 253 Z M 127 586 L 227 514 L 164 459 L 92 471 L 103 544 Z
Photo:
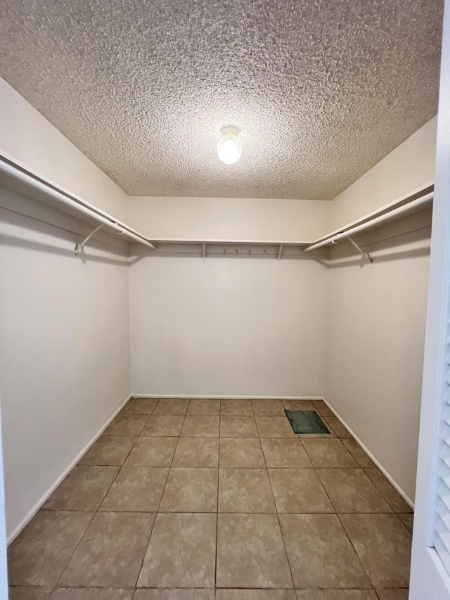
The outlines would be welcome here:
M 94 219 L 94 221 L 113 229 L 117 234 L 123 234 L 124 236 L 127 236 L 127 238 L 146 245 L 152 250 L 157 249 L 153 243 L 150 243 L 146 238 L 144 238 L 144 236 L 139 234 L 138 231 L 135 231 L 124 223 L 117 221 L 114 219 L 114 217 L 108 215 L 107 212 L 103 212 L 103 210 L 96 208 L 94 205 L 85 202 L 81 198 L 77 198 L 77 196 L 72 196 L 72 194 L 62 189 L 58 189 L 58 187 L 51 184 L 49 181 L 41 179 L 41 177 L 39 177 L 37 174 L 28 171 L 24 167 L 15 163 L 13 160 L 6 158 L 6 156 L 1 154 L 0 174 L 6 174 L 8 177 L 15 179 L 15 181 L 19 181 L 21 184 L 25 184 L 27 187 L 34 189 L 34 191 L 44 193 L 46 196 L 49 196 L 54 200 L 58 200 L 58 202 L 70 208 L 75 208 L 75 210 L 82 212 L 87 217 Z

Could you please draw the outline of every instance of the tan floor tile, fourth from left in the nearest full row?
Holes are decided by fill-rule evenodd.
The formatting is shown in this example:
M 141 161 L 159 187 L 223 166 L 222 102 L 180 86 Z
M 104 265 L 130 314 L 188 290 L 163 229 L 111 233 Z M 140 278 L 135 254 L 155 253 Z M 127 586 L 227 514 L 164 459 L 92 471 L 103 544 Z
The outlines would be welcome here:
M 293 587 L 276 515 L 218 515 L 217 587 Z

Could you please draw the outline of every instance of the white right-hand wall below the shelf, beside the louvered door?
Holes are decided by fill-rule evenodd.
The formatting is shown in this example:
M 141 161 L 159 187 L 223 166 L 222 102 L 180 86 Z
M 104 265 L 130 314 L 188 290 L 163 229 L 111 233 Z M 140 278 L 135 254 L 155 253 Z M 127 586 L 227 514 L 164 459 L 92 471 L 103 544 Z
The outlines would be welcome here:
M 412 501 L 430 244 L 421 216 L 425 229 L 394 248 L 359 238 L 373 268 L 338 255 L 327 282 L 325 397 Z

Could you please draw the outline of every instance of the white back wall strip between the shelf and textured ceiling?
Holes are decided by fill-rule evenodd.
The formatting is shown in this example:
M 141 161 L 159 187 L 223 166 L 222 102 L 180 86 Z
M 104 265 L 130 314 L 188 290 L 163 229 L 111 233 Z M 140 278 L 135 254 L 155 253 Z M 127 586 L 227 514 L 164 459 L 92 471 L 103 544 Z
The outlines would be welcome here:
M 150 239 L 311 241 L 327 233 L 329 209 L 321 200 L 131 196 L 129 224 Z

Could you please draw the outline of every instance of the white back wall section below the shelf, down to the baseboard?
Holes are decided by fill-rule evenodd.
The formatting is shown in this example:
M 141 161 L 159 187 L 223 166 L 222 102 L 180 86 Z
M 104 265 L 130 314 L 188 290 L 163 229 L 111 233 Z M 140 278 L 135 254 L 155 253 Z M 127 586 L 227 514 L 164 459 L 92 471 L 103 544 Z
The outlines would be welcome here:
M 142 257 L 130 269 L 132 392 L 321 396 L 325 283 L 309 258 Z

